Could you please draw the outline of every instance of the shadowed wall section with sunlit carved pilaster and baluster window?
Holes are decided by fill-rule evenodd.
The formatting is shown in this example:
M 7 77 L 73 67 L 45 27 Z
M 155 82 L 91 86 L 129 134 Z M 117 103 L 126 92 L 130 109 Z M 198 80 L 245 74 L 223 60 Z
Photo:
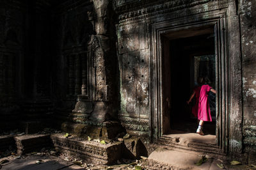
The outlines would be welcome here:
M 93 127 L 100 135 L 118 120 L 111 8 L 110 1 L 65 1 L 53 10 L 55 116 L 63 130 L 79 136 Z

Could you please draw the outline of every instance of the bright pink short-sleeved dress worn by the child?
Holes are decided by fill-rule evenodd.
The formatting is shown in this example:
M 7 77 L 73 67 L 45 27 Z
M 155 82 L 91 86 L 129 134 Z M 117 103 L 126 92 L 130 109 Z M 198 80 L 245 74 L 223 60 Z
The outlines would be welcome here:
M 208 101 L 208 93 L 211 86 L 202 85 L 194 89 L 196 95 L 196 104 L 192 108 L 192 113 L 198 120 L 212 121 L 211 111 Z

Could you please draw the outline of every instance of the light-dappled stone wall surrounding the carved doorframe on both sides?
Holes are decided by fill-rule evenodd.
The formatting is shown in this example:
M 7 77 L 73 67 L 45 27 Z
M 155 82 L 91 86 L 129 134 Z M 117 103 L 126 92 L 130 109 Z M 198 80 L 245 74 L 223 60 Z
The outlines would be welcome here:
M 221 73 L 221 76 L 224 76 L 221 81 L 228 81 L 225 82 L 227 84 L 219 87 L 222 91 L 219 97 L 228 98 L 230 107 L 228 103 L 227 105 L 221 104 L 227 101 L 221 99 L 220 105 L 223 105 L 221 111 L 226 112 L 228 119 L 221 120 L 226 122 L 221 125 L 225 128 L 220 128 L 217 125 L 220 130 L 217 135 L 223 135 L 223 139 L 221 139 L 223 144 L 220 145 L 221 148 L 224 147 L 223 150 L 227 149 L 228 154 L 245 153 L 246 155 L 249 153 L 249 160 L 252 161 L 253 154 L 255 157 L 253 152 L 255 150 L 254 105 L 256 101 L 254 72 L 256 29 L 254 24 L 255 10 L 253 10 L 255 6 L 254 1 L 243 0 L 116 1 L 116 13 L 118 15 L 116 35 L 118 36 L 121 95 L 119 116 L 127 131 L 134 135 L 154 136 L 154 131 L 162 128 L 157 127 L 157 125 L 154 127 L 154 121 L 157 119 L 154 117 L 154 112 L 155 110 L 158 112 L 157 109 L 161 108 L 161 102 L 158 103 L 160 106 L 156 105 L 157 102 L 154 103 L 153 101 L 156 98 L 152 99 L 151 97 L 157 96 L 150 92 L 153 88 L 161 88 L 152 84 L 152 79 L 154 79 L 152 77 L 157 73 L 150 72 L 150 62 L 157 62 L 151 56 L 158 52 L 154 51 L 156 50 L 154 43 L 159 43 L 157 38 L 154 39 L 157 36 L 157 33 L 152 30 L 154 26 L 157 29 L 157 26 L 161 27 L 161 23 L 162 25 L 170 23 L 170 27 L 182 27 L 179 24 L 200 22 L 200 20 L 210 19 L 214 15 L 216 17 L 221 16 L 220 18 L 227 19 L 224 21 L 228 26 L 227 41 L 224 41 L 225 44 L 223 45 L 229 50 L 227 57 L 224 58 L 225 62 L 221 65 L 229 67 L 230 70 L 225 71 L 227 75 Z M 218 12 L 223 12 L 223 15 Z M 184 29 L 186 28 L 184 27 Z M 220 33 L 221 38 L 225 38 L 225 34 L 225 29 L 223 29 L 223 33 Z M 150 57 L 153 61 L 150 61 Z M 159 121 L 161 121 L 161 116 L 156 122 L 156 124 L 160 123 L 158 125 L 161 125 Z M 224 134 L 227 134 L 228 138 Z M 248 160 L 247 158 L 244 157 L 244 160 Z

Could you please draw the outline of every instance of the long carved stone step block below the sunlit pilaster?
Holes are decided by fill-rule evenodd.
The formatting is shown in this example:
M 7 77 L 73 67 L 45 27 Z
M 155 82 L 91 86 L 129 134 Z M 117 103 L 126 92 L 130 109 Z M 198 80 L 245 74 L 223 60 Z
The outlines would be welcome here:
M 101 144 L 85 139 L 64 137 L 63 134 L 52 134 L 52 142 L 56 150 L 67 155 L 100 164 L 113 164 L 122 157 L 124 143 L 115 142 Z

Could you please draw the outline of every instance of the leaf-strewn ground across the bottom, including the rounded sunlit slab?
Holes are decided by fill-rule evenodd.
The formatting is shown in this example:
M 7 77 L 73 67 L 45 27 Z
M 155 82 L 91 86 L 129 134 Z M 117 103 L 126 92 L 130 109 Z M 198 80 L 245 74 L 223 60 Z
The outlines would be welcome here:
M 220 169 L 217 164 L 224 167 L 224 169 L 256 169 L 252 165 L 237 165 L 231 166 L 228 162 L 215 158 L 207 158 L 207 161 L 196 166 L 195 162 L 198 162 L 202 158 L 202 155 L 196 153 L 186 153 L 184 151 L 172 151 L 158 148 L 154 151 L 147 160 L 141 159 L 131 163 L 124 163 L 124 160 L 120 160 L 119 164 L 113 166 L 106 166 L 100 164 L 90 164 L 89 162 L 83 162 L 80 166 L 76 162 L 67 157 L 56 157 L 52 155 L 26 155 L 24 157 L 18 157 L 12 155 L 0 159 L 8 160 L 8 162 L 1 164 L 0 169 L 4 170 L 71 170 L 71 169 Z M 77 161 L 79 162 L 79 161 Z

